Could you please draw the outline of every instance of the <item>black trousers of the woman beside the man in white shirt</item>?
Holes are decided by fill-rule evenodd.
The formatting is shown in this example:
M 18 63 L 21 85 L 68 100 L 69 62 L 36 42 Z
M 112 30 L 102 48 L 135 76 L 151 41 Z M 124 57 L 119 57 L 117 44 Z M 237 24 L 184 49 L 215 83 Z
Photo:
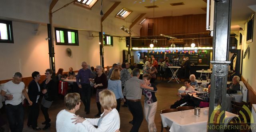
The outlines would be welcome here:
M 37 127 L 37 119 L 39 115 L 39 105 L 38 103 L 34 102 L 32 106 L 28 106 L 28 125 L 32 125 L 32 128 Z

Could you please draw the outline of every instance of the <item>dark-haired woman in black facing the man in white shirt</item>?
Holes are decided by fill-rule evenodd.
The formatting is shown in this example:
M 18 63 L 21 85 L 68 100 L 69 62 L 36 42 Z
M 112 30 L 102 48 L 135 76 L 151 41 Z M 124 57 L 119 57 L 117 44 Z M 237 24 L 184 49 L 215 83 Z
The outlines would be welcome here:
M 28 85 L 28 97 L 33 102 L 31 106 L 28 106 L 29 112 L 28 112 L 28 127 L 32 126 L 34 130 L 41 130 L 37 126 L 37 119 L 39 115 L 39 105 L 38 105 L 38 99 L 40 97 L 40 86 L 38 84 L 38 81 L 41 80 L 41 75 L 39 72 L 33 72 L 32 73 L 33 80 Z

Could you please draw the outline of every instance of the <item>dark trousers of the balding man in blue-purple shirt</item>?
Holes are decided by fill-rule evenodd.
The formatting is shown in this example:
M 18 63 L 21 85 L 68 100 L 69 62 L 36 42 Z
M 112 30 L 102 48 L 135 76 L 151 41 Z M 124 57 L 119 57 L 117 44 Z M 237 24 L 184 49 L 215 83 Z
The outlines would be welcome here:
M 81 84 L 80 96 L 81 100 L 84 103 L 86 112 L 90 112 L 90 103 L 91 103 L 91 86 L 90 84 Z

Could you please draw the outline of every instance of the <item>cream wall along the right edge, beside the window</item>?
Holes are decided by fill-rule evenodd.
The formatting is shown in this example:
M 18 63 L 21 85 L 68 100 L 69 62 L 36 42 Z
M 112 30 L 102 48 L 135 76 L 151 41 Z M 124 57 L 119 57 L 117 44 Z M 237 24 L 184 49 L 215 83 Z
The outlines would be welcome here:
M 254 14 L 256 14 L 254 12 Z M 254 16 L 255 17 L 255 16 Z M 245 24 L 245 30 L 244 30 L 244 39 L 242 45 L 239 46 L 238 49 L 246 50 L 248 46 L 250 46 L 250 58 L 248 58 L 248 54 L 246 58 L 242 58 L 243 65 L 242 65 L 242 76 L 245 78 L 245 80 L 252 86 L 252 88 L 256 91 L 256 21 L 254 20 L 254 29 L 253 29 L 253 41 L 246 44 L 246 35 L 247 35 L 247 23 Z

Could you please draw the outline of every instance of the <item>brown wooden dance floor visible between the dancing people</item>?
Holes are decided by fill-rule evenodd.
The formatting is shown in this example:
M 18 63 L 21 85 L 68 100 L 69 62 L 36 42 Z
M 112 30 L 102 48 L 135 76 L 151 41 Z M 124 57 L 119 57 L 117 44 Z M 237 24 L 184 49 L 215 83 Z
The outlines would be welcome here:
M 174 80 L 172 80 L 172 82 L 167 83 L 166 80 L 164 81 L 160 81 L 160 80 L 156 80 L 156 86 L 158 88 L 158 92 L 156 93 L 156 98 L 158 100 L 158 106 L 157 106 L 157 112 L 156 112 L 156 117 L 155 117 L 155 123 L 156 123 L 156 127 L 157 127 L 157 131 L 160 132 L 161 130 L 161 118 L 160 118 L 160 111 L 162 109 L 166 109 L 166 108 L 170 108 L 171 104 L 174 104 L 174 102 L 176 102 L 176 100 L 178 99 L 178 96 L 176 96 L 176 93 L 178 92 L 178 89 L 184 85 L 183 82 L 181 82 L 180 84 L 178 84 L 177 82 L 174 82 Z M 142 95 L 142 107 L 144 105 L 144 95 Z M 45 132 L 55 132 L 56 131 L 56 116 L 58 114 L 58 112 L 60 112 L 60 110 L 63 110 L 64 104 L 63 104 L 63 100 L 61 98 L 57 99 L 54 101 L 53 105 L 51 106 L 51 108 L 49 109 L 49 116 L 50 119 L 52 120 L 51 123 L 51 127 L 48 130 L 41 130 L 41 131 L 45 131 Z M 25 110 L 26 114 L 25 114 L 25 119 L 24 119 L 24 128 L 23 131 L 24 132 L 33 132 L 34 130 L 30 127 L 28 128 L 27 124 L 27 119 L 28 119 L 28 110 Z M 103 110 L 102 110 L 103 112 Z M 76 112 L 77 115 L 83 116 L 85 118 L 94 118 L 94 115 L 96 115 L 98 113 L 97 107 L 96 107 L 96 102 L 95 102 L 95 94 L 92 96 L 91 98 L 91 107 L 90 107 L 90 114 L 86 115 L 84 112 L 84 105 L 81 104 L 80 106 L 80 110 L 78 110 Z M 132 124 L 129 124 L 129 121 L 132 120 L 132 114 L 129 112 L 128 107 L 121 107 L 120 108 L 120 131 L 121 132 L 129 132 L 130 129 L 132 128 Z M 38 118 L 38 126 L 40 128 L 43 128 L 44 125 L 42 125 L 41 123 L 44 122 L 44 117 L 42 112 L 40 111 L 39 113 L 39 118 Z M 147 122 L 144 118 L 141 126 L 140 126 L 140 130 L 139 132 L 148 132 L 148 125 Z

